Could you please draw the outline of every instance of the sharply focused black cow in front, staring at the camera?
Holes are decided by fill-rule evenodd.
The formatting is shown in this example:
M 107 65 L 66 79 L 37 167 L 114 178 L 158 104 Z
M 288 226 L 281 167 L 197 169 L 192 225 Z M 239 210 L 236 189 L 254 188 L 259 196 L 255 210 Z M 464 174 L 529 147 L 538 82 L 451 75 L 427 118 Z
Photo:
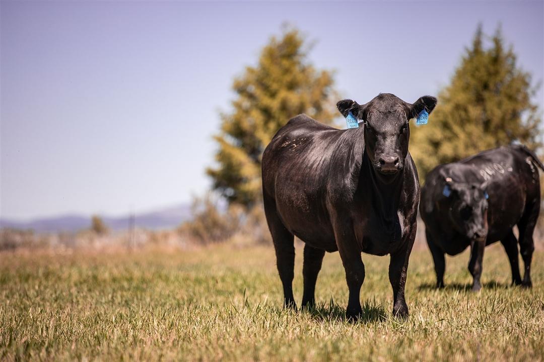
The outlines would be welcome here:
M 409 120 L 436 98 L 409 104 L 379 94 L 367 104 L 342 100 L 338 110 L 362 120 L 338 130 L 299 115 L 289 120 L 264 150 L 264 209 L 274 240 L 285 305 L 296 308 L 292 281 L 293 236 L 304 247 L 302 306 L 314 303 L 325 251 L 339 251 L 349 288 L 347 316 L 361 313 L 364 280 L 361 252 L 391 254 L 393 314 L 406 316 L 404 285 L 416 236 L 417 170 L 408 153 Z

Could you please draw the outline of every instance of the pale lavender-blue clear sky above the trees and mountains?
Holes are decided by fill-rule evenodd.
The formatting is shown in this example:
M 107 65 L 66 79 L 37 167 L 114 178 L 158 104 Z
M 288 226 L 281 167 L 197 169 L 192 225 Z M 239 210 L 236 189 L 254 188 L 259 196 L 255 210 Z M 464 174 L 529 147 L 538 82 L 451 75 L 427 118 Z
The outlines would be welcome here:
M 477 24 L 544 79 L 544 2 L 0 3 L 0 217 L 122 215 L 211 186 L 233 78 L 282 24 L 342 98 L 436 95 Z M 544 109 L 542 88 L 535 101 Z

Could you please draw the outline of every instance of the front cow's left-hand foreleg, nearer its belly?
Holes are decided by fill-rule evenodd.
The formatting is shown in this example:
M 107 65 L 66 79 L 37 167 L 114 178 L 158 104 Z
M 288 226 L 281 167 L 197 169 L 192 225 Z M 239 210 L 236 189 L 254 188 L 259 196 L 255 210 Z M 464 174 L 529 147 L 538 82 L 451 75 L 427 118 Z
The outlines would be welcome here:
M 336 244 L 345 270 L 348 283 L 349 299 L 345 314 L 349 320 L 357 320 L 362 312 L 359 295 L 364 281 L 364 264 L 361 259 L 361 247 L 357 244 L 353 226 L 344 223 L 336 225 Z

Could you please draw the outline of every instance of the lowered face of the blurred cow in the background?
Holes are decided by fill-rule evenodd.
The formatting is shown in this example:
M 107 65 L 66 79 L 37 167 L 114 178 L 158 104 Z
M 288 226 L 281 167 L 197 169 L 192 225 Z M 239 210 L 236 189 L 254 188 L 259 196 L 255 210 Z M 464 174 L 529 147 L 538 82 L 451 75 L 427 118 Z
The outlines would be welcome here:
M 487 236 L 487 192 L 485 185 L 447 182 L 442 197 L 447 199 L 449 217 L 461 235 L 470 240 Z

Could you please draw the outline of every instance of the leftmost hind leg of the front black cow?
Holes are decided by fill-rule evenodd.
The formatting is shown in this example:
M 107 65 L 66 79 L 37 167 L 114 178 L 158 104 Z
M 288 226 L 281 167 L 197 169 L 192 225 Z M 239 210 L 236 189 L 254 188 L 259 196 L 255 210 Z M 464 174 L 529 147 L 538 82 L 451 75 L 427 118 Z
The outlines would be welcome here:
M 276 250 L 277 271 L 280 273 L 283 284 L 283 304 L 286 308 L 296 309 L 293 297 L 293 277 L 295 269 L 294 236 L 283 225 L 276 211 L 275 202 L 264 198 L 264 212 L 267 217 L 268 228 L 272 234 L 274 249 Z

